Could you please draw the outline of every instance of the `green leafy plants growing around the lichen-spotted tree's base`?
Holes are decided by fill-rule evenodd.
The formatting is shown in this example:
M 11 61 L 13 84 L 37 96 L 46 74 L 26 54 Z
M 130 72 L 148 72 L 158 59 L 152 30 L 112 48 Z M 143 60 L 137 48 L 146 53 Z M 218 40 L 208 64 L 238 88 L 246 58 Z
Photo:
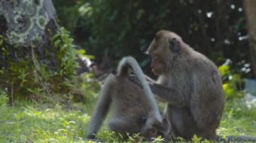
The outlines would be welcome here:
M 11 103 L 14 99 L 24 97 L 40 102 L 85 101 L 82 89 L 77 88 L 84 83 L 79 83 L 75 77 L 78 53 L 69 32 L 60 28 L 51 39 L 51 44 L 53 48 L 45 48 L 43 54 L 47 60 L 44 60 L 36 48 L 28 49 L 30 54 L 25 55 L 3 40 L 0 58 L 4 60 L 0 65 L 4 66 L 0 70 L 0 85 L 9 91 Z M 13 60 L 11 53 L 17 53 L 22 58 Z M 91 85 L 98 86 L 94 83 Z

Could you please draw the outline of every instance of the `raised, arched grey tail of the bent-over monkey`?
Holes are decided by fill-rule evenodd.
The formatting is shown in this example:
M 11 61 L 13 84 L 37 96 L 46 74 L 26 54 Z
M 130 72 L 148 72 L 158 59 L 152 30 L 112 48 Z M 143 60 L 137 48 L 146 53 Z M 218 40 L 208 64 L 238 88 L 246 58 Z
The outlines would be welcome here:
M 123 58 L 119 62 L 119 66 L 117 68 L 117 76 L 129 75 L 129 66 L 131 66 L 131 68 L 133 68 L 135 75 L 137 76 L 137 78 L 139 79 L 139 82 L 142 85 L 143 91 L 146 93 L 146 96 L 148 97 L 149 101 L 151 102 L 151 105 L 153 105 L 154 114 L 156 115 L 156 119 L 158 121 L 162 121 L 162 118 L 161 118 L 161 115 L 160 115 L 160 112 L 158 109 L 158 105 L 157 105 L 154 95 L 150 89 L 150 85 L 148 85 L 148 82 L 146 81 L 146 78 L 145 78 L 139 64 L 137 63 L 137 60 L 135 60 L 135 58 L 133 58 L 132 56 L 127 56 L 127 57 Z

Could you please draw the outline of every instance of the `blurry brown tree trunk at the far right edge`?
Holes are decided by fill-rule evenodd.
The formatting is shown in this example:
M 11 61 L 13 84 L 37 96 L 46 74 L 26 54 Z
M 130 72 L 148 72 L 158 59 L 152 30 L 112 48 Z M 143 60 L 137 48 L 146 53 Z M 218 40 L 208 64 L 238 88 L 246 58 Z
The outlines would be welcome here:
M 243 7 L 247 17 L 247 30 L 249 34 L 251 67 L 253 68 L 253 77 L 256 77 L 256 1 L 244 0 Z

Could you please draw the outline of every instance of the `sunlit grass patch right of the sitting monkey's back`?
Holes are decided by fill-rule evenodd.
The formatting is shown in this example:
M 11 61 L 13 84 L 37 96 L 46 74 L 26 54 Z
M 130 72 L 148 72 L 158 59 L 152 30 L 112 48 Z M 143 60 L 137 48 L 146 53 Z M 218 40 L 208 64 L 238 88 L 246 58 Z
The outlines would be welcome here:
M 226 101 L 218 134 L 256 136 L 256 109 L 247 108 L 243 99 Z

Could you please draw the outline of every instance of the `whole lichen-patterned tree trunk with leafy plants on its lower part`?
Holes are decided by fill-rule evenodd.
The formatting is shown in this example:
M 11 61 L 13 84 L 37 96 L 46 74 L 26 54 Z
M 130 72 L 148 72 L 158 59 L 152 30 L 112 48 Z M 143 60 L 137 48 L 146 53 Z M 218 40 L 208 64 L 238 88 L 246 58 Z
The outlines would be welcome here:
M 77 96 L 72 42 L 57 26 L 51 0 L 0 0 L 0 93 L 7 90 L 10 103 L 20 97 L 63 102 Z

